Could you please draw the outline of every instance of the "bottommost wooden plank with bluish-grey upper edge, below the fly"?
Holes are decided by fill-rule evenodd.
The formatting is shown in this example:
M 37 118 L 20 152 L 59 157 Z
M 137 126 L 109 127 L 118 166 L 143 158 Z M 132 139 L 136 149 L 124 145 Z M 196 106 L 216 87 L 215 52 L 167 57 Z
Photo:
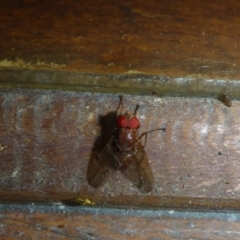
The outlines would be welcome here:
M 2 239 L 235 240 L 240 237 L 240 217 L 236 212 L 132 211 L 62 205 L 0 207 Z

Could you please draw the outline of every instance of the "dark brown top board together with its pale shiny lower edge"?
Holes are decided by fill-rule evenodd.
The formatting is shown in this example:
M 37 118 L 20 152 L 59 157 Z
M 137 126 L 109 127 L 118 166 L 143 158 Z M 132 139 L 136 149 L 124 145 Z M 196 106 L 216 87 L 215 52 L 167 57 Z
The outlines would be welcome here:
M 237 0 L 4 1 L 0 87 L 239 99 L 239 10 Z

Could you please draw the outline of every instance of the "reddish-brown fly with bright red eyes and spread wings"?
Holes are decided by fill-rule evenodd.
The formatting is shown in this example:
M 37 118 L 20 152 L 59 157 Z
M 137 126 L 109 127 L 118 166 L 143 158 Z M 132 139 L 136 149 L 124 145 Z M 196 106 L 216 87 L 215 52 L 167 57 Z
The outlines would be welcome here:
M 94 166 L 92 174 L 88 176 L 88 182 L 95 188 L 100 187 L 112 168 L 121 171 L 134 186 L 147 193 L 152 191 L 154 179 L 141 139 L 145 137 L 146 143 L 149 132 L 165 131 L 166 129 L 154 129 L 138 136 L 140 122 L 137 118 L 137 111 L 139 105 L 137 104 L 133 113 L 126 111 L 122 114 L 122 96 L 119 96 L 119 99 L 119 106 L 115 112 L 115 129 L 100 156 L 92 155 L 92 158 L 96 159 L 90 159 L 90 161 L 97 160 L 95 161 L 97 164 Z

